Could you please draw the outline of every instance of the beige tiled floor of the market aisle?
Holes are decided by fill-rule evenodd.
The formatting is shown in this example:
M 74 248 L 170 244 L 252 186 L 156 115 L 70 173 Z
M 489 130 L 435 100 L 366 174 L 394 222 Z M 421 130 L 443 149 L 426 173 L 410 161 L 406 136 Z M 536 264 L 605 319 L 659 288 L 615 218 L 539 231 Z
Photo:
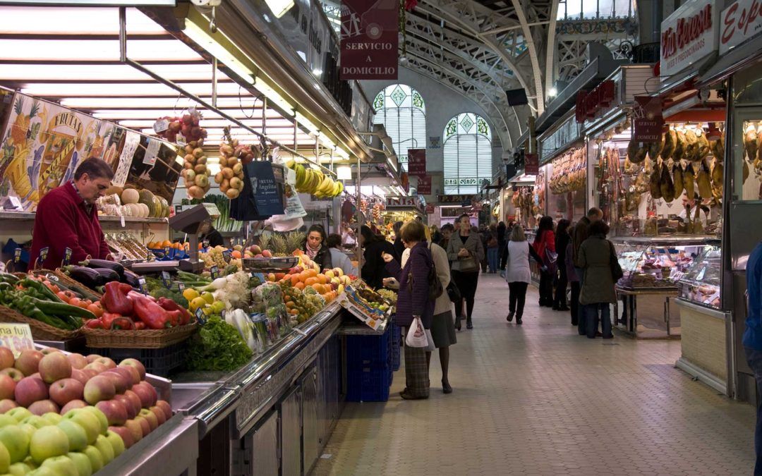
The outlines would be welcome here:
M 350 403 L 314 474 L 751 474 L 754 409 L 674 368 L 680 341 L 588 340 L 568 313 L 507 324 L 507 287 L 482 274 L 475 329 L 451 347 L 443 395 Z

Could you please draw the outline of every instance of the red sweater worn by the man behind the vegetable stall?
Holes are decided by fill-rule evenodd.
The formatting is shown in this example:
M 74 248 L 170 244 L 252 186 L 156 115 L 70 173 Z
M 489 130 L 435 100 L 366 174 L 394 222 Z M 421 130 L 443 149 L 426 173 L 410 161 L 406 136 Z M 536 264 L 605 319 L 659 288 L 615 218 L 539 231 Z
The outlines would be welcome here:
M 71 182 L 50 190 L 37 205 L 30 268 L 45 247 L 48 247 L 48 254 L 42 267 L 46 270 L 61 266 L 66 248 L 72 250 L 69 263 L 78 263 L 88 255 L 104 260 L 110 253 L 98 222 L 98 210 L 92 206 L 87 212 L 85 200 Z

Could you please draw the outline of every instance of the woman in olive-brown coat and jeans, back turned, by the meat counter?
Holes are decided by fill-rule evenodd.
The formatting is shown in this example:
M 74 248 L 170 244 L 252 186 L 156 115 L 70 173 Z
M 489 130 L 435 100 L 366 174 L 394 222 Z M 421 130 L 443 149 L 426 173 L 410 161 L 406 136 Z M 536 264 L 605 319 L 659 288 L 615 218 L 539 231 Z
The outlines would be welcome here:
M 594 339 L 598 330 L 598 319 L 604 339 L 613 337 L 609 305 L 616 302 L 616 282 L 611 273 L 611 257 L 614 246 L 606 239 L 609 225 L 603 220 L 590 225 L 590 236 L 579 247 L 577 264 L 584 270 L 584 282 L 579 302 L 584 305 L 585 331 Z

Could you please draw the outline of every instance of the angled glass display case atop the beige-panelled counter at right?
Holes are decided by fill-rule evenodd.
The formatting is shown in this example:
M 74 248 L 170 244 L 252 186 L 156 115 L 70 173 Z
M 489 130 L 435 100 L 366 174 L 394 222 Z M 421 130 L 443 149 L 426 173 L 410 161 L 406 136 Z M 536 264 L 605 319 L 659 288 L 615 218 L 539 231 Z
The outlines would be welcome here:
M 722 250 L 706 245 L 680 279 L 680 297 L 711 308 L 720 306 Z

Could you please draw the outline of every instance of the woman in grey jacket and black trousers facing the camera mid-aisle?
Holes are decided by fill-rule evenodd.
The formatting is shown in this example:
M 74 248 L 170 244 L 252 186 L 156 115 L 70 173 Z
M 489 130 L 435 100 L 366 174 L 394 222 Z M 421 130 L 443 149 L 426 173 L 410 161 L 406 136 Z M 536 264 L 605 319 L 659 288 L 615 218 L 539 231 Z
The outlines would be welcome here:
M 484 246 L 476 232 L 471 232 L 471 219 L 465 213 L 458 219 L 459 232 L 450 238 L 447 257 L 453 261 L 453 280 L 460 289 L 462 299 L 455 303 L 455 328 L 460 330 L 463 301 L 466 302 L 466 328 L 472 329 L 472 314 L 476 285 L 479 283 L 479 263 L 484 257 Z

